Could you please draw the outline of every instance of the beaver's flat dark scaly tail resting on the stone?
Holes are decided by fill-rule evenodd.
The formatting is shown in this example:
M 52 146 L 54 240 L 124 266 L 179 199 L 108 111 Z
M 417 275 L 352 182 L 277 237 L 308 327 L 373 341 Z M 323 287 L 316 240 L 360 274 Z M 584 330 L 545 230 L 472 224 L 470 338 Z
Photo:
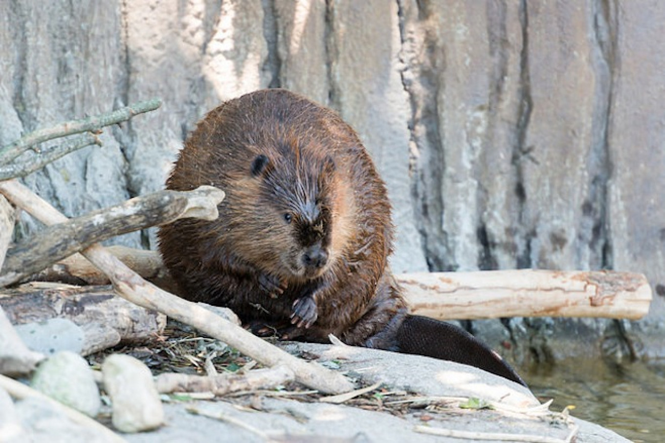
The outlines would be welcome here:
M 397 346 L 401 353 L 477 367 L 527 387 L 517 372 L 497 353 L 461 327 L 445 321 L 406 315 L 397 330 Z

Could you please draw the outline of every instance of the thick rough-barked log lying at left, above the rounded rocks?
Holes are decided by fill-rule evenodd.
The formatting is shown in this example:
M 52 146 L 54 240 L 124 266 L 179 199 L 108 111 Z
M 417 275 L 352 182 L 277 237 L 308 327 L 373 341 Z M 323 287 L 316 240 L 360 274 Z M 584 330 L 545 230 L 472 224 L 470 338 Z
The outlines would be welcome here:
M 142 341 L 166 327 L 164 314 L 118 297 L 110 286 L 25 284 L 0 291 L 0 307 L 15 325 L 61 317 L 80 326 L 108 325 L 124 341 Z

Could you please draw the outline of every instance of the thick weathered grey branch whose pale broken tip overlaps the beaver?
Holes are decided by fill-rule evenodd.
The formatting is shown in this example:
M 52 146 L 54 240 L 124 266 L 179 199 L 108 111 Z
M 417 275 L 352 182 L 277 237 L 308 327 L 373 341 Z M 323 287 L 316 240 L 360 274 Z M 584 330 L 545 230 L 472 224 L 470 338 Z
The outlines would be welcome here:
M 223 197 L 221 189 L 211 186 L 201 186 L 194 191 L 158 191 L 49 226 L 9 250 L 0 274 L 0 286 L 18 282 L 107 238 L 184 217 L 214 220 L 217 204 Z

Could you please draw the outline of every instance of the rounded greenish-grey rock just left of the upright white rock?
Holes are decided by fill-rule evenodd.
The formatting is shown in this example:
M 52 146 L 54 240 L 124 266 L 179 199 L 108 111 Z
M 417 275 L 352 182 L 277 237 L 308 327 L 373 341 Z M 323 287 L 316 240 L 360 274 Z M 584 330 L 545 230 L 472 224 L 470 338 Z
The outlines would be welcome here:
M 45 360 L 35 371 L 31 386 L 94 417 L 99 412 L 101 400 L 88 363 L 71 351 L 60 351 Z

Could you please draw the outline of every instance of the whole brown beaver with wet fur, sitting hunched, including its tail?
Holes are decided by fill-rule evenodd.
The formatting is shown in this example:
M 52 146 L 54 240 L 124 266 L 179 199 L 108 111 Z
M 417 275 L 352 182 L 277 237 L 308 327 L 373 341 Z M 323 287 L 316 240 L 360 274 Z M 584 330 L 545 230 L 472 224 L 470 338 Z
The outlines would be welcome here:
M 160 228 L 182 297 L 226 306 L 258 335 L 457 361 L 525 385 L 450 323 L 409 315 L 392 276 L 386 186 L 336 112 L 283 89 L 229 100 L 198 123 L 166 182 L 223 189 L 215 221 Z

